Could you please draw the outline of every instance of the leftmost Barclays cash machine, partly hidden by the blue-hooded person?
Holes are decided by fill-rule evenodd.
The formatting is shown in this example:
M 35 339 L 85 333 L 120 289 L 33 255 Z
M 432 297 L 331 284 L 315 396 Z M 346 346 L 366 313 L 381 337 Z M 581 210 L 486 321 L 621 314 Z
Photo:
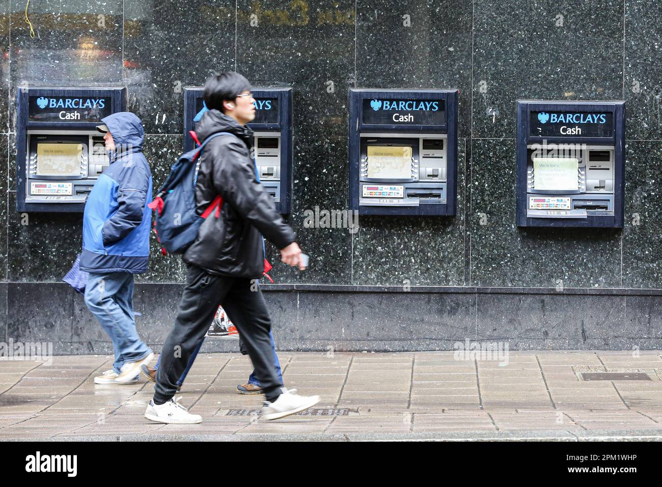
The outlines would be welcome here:
M 17 211 L 83 211 L 109 164 L 103 117 L 124 111 L 126 88 L 18 87 Z

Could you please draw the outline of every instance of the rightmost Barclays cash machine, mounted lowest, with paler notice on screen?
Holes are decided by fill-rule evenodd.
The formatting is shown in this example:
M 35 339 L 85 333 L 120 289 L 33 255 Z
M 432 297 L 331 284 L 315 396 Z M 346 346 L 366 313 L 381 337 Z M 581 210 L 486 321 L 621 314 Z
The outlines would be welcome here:
M 623 227 L 624 101 L 517 102 L 518 227 Z

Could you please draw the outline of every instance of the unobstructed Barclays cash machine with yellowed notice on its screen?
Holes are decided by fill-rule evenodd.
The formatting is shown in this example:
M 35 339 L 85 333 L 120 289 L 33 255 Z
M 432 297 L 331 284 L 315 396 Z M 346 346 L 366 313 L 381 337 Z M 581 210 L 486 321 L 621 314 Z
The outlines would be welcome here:
M 350 89 L 350 209 L 455 215 L 458 93 Z

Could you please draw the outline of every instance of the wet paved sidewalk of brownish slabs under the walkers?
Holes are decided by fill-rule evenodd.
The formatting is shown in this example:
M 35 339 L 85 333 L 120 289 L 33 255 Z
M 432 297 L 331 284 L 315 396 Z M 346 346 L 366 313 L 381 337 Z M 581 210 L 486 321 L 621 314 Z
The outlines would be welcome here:
M 507 361 L 453 352 L 279 357 L 286 387 L 321 396 L 315 409 L 263 421 L 263 396 L 236 392 L 252 370 L 248 358 L 201 354 L 178 394 L 203 416 L 198 425 L 145 419 L 153 384 L 143 376 L 94 384 L 111 356 L 2 360 L 0 440 L 662 439 L 656 351 L 509 352 Z

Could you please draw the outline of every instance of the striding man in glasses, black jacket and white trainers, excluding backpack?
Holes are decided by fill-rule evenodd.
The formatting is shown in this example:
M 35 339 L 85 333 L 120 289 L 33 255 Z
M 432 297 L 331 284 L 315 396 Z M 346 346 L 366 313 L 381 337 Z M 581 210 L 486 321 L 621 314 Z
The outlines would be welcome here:
M 281 260 L 305 269 L 297 236 L 275 211 L 271 197 L 256 177 L 252 131 L 246 123 L 255 118 L 250 83 L 235 72 L 212 76 L 205 83 L 209 111 L 197 123 L 201 140 L 214 137 L 205 146 L 195 187 L 197 213 L 209 207 L 216 195 L 224 201 L 220 215 L 203 221 L 195 241 L 187 248 L 187 265 L 179 313 L 161 354 L 154 398 L 145 417 L 160 423 L 200 423 L 173 399 L 177 379 L 191 353 L 202 341 L 220 303 L 237 327 L 266 401 L 265 419 L 277 419 L 314 406 L 318 396 L 304 397 L 281 388 L 271 349 L 271 319 L 258 280 L 264 270 L 266 237 L 281 249 Z

